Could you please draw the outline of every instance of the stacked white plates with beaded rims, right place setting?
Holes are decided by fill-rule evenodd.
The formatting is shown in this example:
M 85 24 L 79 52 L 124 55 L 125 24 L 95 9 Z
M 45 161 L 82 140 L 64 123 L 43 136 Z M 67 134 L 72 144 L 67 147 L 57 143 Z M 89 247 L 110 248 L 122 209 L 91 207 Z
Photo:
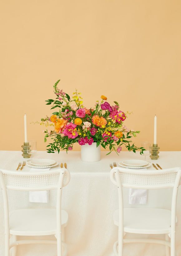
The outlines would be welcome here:
M 151 165 L 151 163 L 144 160 L 131 159 L 131 160 L 121 161 L 119 162 L 119 165 L 121 167 L 129 168 L 129 169 L 143 169 L 143 168 L 148 168 Z

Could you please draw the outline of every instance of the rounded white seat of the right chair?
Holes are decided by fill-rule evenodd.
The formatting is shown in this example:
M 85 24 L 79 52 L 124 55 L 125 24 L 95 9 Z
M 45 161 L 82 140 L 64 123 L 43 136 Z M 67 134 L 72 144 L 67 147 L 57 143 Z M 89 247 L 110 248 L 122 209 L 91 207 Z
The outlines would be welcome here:
M 119 210 L 114 215 L 119 226 Z M 170 233 L 171 211 L 157 208 L 124 208 L 124 232 L 139 234 Z M 177 222 L 177 221 L 176 221 Z

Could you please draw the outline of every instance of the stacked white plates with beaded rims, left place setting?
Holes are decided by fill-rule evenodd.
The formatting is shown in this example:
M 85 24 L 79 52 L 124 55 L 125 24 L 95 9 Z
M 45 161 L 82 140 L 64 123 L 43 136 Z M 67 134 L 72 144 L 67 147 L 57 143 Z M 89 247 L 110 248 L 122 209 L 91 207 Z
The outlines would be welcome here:
M 51 159 L 32 159 L 27 162 L 27 165 L 32 168 L 45 169 L 57 166 L 58 163 L 55 160 Z

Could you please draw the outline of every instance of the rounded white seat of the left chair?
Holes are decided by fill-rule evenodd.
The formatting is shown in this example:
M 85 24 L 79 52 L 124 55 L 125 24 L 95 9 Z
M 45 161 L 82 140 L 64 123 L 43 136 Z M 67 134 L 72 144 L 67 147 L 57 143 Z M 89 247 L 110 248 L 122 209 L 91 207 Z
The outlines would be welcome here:
M 61 210 L 61 224 L 66 226 L 68 213 Z M 41 236 L 56 234 L 56 209 L 18 209 L 9 213 L 10 234 Z

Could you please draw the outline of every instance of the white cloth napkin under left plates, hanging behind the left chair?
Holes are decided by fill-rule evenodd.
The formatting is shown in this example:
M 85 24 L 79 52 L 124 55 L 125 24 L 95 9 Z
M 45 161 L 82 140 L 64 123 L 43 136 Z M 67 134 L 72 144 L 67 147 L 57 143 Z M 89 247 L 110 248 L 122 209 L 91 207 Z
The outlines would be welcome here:
M 30 172 L 42 172 L 48 171 L 50 168 L 39 169 L 39 168 L 31 168 Z M 48 203 L 49 202 L 49 191 L 29 191 L 29 201 L 33 203 Z

